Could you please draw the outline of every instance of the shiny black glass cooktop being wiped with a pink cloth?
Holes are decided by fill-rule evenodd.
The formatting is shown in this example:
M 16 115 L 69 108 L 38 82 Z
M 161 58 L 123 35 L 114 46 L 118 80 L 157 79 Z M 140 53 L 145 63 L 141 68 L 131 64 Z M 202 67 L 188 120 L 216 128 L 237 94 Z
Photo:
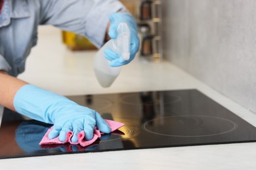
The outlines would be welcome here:
M 256 141 L 256 127 L 198 90 L 68 97 L 125 126 L 87 147 L 40 146 L 52 125 L 24 120 L 5 109 L 0 128 L 0 158 Z

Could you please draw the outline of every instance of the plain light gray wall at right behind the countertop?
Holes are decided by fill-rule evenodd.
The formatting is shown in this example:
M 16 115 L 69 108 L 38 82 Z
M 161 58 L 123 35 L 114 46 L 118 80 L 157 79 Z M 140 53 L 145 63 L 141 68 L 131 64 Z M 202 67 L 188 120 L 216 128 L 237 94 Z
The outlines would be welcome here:
M 164 58 L 256 112 L 256 1 L 162 1 Z

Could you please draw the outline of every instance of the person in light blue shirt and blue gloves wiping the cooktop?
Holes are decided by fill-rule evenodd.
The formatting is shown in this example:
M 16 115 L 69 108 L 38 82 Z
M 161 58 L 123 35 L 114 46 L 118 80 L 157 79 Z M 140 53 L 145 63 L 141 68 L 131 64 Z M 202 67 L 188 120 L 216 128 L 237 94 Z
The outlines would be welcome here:
M 117 54 L 106 50 L 112 67 L 129 63 L 139 50 L 137 24 L 116 0 L 0 0 L 0 105 L 41 122 L 54 124 L 49 138 L 65 141 L 66 133 L 84 130 L 85 138 L 93 138 L 98 127 L 110 133 L 110 127 L 95 110 L 77 105 L 64 96 L 43 90 L 16 78 L 24 71 L 26 58 L 37 42 L 38 25 L 51 24 L 60 29 L 85 35 L 102 46 L 116 39 L 120 22 L 131 29 L 131 58 L 122 61 Z

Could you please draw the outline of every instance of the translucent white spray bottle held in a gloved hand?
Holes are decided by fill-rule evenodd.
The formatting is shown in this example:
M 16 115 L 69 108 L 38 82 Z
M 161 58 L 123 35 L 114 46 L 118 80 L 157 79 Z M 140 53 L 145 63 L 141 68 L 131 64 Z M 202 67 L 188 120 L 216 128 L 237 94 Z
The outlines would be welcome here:
M 121 66 L 110 66 L 110 61 L 105 58 L 104 50 L 110 48 L 113 50 L 113 52 L 121 56 L 123 60 L 129 60 L 131 41 L 130 37 L 131 35 L 128 25 L 122 22 L 117 27 L 117 38 L 110 39 L 110 41 L 106 42 L 106 44 L 104 44 L 104 46 L 102 46 L 102 48 L 100 48 L 100 50 L 98 50 L 96 53 L 95 59 L 93 61 L 95 75 L 102 87 L 110 87 L 121 71 Z

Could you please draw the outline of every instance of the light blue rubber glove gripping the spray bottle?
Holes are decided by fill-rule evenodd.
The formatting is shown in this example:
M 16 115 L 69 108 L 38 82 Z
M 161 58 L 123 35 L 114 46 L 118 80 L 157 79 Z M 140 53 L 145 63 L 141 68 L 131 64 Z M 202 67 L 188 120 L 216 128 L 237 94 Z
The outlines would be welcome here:
M 110 60 L 110 66 L 112 67 L 118 67 L 121 65 L 125 65 L 129 62 L 131 62 L 137 52 L 139 51 L 140 46 L 140 40 L 137 34 L 137 23 L 133 16 L 127 12 L 117 12 L 110 15 L 110 28 L 108 31 L 108 35 L 110 35 L 111 39 L 117 38 L 117 27 L 121 22 L 125 22 L 131 31 L 131 46 L 130 46 L 130 59 L 124 60 L 119 56 L 118 54 L 114 53 L 111 49 L 106 49 L 105 52 L 105 58 Z

